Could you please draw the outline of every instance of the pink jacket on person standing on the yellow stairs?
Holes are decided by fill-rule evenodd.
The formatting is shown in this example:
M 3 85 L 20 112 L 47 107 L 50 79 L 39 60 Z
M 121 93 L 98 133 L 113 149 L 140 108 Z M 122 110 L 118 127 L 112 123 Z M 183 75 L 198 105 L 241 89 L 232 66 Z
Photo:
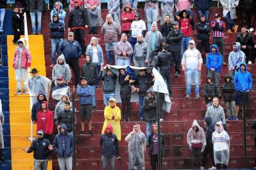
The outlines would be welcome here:
M 16 69 L 18 67 L 20 56 L 20 50 L 18 48 L 15 51 L 15 56 L 13 57 L 13 68 Z M 31 65 L 31 54 L 28 48 L 23 47 L 22 54 L 21 54 L 21 69 L 27 69 Z

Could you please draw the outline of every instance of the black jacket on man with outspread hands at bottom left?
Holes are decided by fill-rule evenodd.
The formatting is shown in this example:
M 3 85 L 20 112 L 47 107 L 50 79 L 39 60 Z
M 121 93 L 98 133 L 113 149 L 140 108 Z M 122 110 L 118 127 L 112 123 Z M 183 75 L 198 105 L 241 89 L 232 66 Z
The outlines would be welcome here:
M 50 156 L 50 150 L 48 149 L 50 141 L 44 139 L 44 133 L 42 139 L 35 139 L 32 141 L 28 153 L 34 152 L 33 157 L 35 160 L 47 161 Z

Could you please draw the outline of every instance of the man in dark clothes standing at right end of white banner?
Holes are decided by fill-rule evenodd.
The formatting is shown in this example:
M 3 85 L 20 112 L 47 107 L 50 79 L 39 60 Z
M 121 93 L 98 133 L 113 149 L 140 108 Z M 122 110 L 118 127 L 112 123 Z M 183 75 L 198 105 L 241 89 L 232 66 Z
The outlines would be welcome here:
M 156 57 L 156 66 L 160 67 L 160 74 L 163 79 L 166 81 L 166 85 L 168 88 L 169 96 L 172 98 L 172 79 L 171 79 L 171 71 L 173 65 L 173 55 L 168 52 L 170 45 L 163 45 L 163 51 L 160 52 Z

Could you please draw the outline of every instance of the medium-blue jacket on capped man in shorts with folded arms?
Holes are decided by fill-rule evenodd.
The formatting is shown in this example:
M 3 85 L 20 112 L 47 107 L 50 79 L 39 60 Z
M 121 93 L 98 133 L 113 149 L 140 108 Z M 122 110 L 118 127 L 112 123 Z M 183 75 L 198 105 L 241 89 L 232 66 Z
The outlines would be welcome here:
M 76 94 L 78 94 L 78 96 L 80 97 L 80 105 L 92 104 L 91 95 L 93 94 L 93 89 L 91 88 L 91 86 L 80 86 L 78 89 L 76 89 Z

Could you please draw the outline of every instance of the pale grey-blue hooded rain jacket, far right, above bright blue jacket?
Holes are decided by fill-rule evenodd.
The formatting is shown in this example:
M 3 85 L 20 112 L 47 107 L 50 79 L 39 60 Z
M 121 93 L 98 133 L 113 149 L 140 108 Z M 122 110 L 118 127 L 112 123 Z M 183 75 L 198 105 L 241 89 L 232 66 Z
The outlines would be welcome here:
M 236 44 L 236 50 L 230 52 L 230 55 L 228 56 L 228 70 L 232 71 L 232 67 L 235 67 L 235 69 L 238 69 L 240 67 L 240 64 L 245 62 L 245 53 L 242 52 L 241 45 L 239 42 L 235 42 Z

